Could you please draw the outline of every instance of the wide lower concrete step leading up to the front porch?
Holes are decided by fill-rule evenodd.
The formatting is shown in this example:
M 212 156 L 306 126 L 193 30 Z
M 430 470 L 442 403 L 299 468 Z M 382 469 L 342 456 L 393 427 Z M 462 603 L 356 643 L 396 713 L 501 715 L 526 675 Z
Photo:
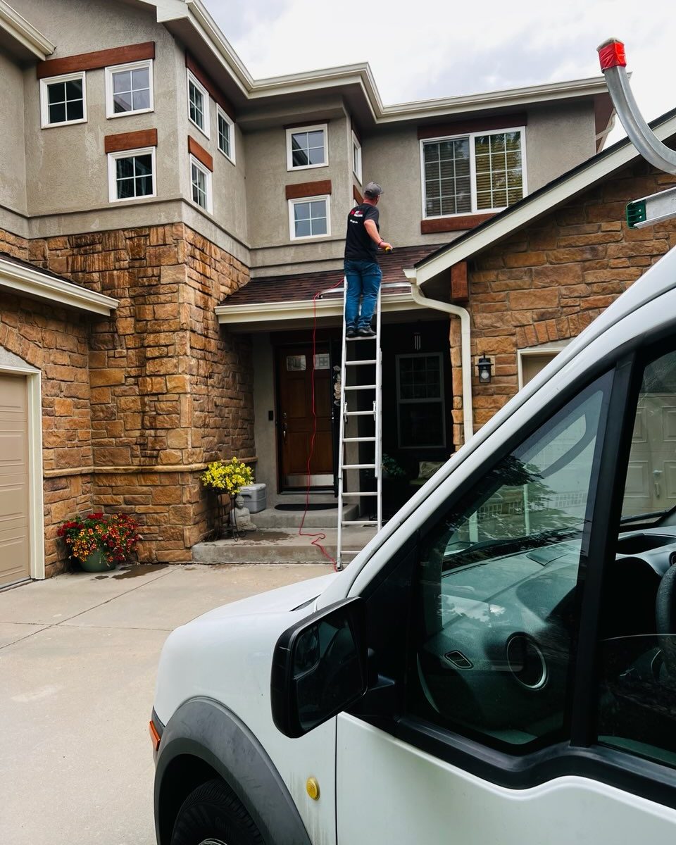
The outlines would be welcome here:
M 308 533 L 319 533 L 319 529 L 310 528 Z M 321 533 L 325 538 L 319 539 L 319 542 L 330 557 L 335 558 L 337 530 L 326 528 Z M 350 526 L 343 532 L 344 548 L 363 548 L 374 535 L 374 528 Z M 313 546 L 313 539 L 314 537 L 299 537 L 297 529 L 262 529 L 247 532 L 246 537 L 237 541 L 228 537 L 225 540 L 199 542 L 192 549 L 193 561 L 195 564 L 326 563 L 320 549 Z

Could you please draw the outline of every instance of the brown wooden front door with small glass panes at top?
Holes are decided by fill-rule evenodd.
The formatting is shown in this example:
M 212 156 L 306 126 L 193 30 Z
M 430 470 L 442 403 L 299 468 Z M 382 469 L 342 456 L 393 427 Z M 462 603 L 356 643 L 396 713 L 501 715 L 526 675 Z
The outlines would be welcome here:
M 333 484 L 331 390 L 328 343 L 317 345 L 314 367 L 312 344 L 278 348 L 282 489 L 305 488 L 308 474 L 312 487 L 330 487 Z

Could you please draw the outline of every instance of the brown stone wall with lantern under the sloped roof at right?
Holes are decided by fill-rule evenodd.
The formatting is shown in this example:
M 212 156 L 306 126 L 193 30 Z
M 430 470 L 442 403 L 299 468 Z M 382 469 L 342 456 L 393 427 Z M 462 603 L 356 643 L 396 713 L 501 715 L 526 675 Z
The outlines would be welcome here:
M 674 178 L 645 163 L 624 168 L 509 239 L 468 268 L 472 315 L 474 427 L 481 428 L 518 390 L 517 350 L 579 335 L 650 264 L 676 245 L 676 222 L 630 229 L 624 206 Z M 460 321 L 450 324 L 453 442 L 462 444 Z M 493 356 L 491 384 L 476 360 Z

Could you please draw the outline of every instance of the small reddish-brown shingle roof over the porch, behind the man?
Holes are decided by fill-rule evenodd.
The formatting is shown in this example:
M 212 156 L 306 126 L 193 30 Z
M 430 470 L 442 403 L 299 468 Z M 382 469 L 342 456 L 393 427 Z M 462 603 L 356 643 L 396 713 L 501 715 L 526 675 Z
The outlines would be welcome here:
M 405 267 L 412 267 L 430 253 L 439 249 L 439 244 L 425 244 L 421 247 L 403 247 L 390 254 L 380 255 L 379 264 L 383 270 L 383 284 L 401 282 L 401 293 L 408 284 L 403 273 Z M 320 273 L 298 273 L 296 275 L 275 275 L 252 279 L 247 285 L 227 297 L 222 305 L 255 305 L 258 303 L 301 302 L 312 299 L 343 281 L 342 270 L 324 270 Z M 389 291 L 397 293 L 396 289 Z

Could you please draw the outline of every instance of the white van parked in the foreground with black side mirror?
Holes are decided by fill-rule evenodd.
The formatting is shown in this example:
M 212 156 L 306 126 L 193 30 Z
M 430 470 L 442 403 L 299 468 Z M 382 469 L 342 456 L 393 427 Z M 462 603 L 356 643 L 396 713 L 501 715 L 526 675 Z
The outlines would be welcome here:
M 346 570 L 162 651 L 160 845 L 672 845 L 676 251 Z

